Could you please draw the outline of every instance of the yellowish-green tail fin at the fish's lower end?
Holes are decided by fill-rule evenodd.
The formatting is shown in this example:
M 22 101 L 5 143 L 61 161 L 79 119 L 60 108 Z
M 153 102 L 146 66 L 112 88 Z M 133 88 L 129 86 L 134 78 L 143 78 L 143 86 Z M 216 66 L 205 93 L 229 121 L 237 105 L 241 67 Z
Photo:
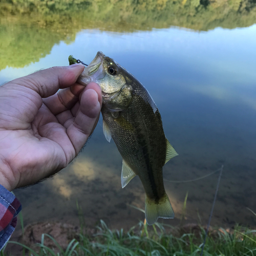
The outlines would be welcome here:
M 174 210 L 168 196 L 165 194 L 159 202 L 145 198 L 145 218 L 148 225 L 153 225 L 158 218 L 173 219 Z

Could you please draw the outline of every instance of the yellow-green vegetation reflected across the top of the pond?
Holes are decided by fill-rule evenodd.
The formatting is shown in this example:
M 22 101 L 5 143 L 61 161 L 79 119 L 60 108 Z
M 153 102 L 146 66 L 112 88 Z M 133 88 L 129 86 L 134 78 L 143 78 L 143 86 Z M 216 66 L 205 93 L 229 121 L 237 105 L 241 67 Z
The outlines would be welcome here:
M 133 32 L 178 26 L 207 31 L 248 27 L 254 0 L 2 0 L 0 70 L 25 67 L 82 29 Z

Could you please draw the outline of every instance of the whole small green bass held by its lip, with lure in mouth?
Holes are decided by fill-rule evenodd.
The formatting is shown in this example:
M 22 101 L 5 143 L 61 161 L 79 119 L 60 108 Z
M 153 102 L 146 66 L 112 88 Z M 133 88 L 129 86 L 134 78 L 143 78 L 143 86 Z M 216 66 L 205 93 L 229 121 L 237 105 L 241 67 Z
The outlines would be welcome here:
M 72 55 L 69 61 L 81 62 Z M 109 142 L 113 138 L 122 156 L 122 188 L 136 175 L 142 182 L 147 224 L 153 225 L 158 218 L 174 218 L 162 168 L 178 153 L 165 137 L 151 95 L 137 78 L 102 52 L 96 54 L 77 82 L 84 86 L 96 82 L 101 87 L 103 133 Z

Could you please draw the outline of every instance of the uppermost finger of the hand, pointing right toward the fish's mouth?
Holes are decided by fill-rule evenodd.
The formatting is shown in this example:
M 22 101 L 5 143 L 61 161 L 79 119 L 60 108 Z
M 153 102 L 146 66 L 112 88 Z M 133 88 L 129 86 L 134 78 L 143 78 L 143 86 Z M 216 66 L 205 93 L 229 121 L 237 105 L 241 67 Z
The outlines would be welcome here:
M 84 66 L 81 64 L 53 67 L 17 78 L 10 83 L 30 88 L 42 98 L 46 98 L 55 94 L 59 89 L 72 86 L 83 70 Z

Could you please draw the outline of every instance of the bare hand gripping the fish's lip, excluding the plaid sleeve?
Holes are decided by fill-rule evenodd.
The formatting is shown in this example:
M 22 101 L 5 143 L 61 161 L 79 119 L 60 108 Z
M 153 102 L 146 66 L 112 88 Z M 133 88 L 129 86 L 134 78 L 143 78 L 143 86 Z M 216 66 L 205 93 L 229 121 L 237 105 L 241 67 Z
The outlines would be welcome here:
M 8 190 L 66 167 L 93 132 L 101 89 L 76 83 L 83 69 L 54 67 L 0 87 L 0 184 Z

